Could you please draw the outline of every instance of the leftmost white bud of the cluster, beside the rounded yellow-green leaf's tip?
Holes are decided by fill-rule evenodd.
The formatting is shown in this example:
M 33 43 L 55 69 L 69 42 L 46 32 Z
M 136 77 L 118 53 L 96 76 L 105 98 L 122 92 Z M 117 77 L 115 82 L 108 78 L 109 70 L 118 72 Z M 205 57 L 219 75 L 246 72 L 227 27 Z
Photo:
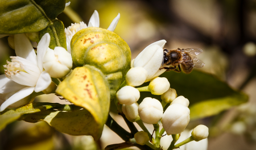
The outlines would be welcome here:
M 117 91 L 117 100 L 121 104 L 132 105 L 139 100 L 140 94 L 133 86 L 124 86 Z

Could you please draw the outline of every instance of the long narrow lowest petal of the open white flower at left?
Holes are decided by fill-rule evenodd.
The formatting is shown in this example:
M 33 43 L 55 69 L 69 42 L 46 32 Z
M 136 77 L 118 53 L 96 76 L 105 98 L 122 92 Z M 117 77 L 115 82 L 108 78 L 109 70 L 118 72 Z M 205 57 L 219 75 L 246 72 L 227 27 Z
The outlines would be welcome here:
M 0 107 L 0 111 L 5 110 L 8 106 L 12 105 L 15 102 L 18 102 L 20 99 L 23 99 L 30 95 L 34 91 L 35 87 L 24 87 L 23 89 L 17 91 L 10 98 L 8 98 Z

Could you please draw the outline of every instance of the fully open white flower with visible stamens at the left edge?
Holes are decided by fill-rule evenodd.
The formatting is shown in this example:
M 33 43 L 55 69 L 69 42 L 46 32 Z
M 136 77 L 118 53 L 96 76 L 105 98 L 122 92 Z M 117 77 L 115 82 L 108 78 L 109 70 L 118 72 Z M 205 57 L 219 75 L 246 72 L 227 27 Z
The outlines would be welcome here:
M 45 34 L 38 44 L 38 55 L 30 40 L 24 34 L 14 35 L 16 56 L 4 65 L 5 74 L 0 76 L 0 93 L 6 95 L 0 111 L 18 102 L 26 104 L 26 98 L 33 91 L 39 92 L 51 84 L 51 77 L 43 71 L 43 57 L 49 47 L 50 36 Z

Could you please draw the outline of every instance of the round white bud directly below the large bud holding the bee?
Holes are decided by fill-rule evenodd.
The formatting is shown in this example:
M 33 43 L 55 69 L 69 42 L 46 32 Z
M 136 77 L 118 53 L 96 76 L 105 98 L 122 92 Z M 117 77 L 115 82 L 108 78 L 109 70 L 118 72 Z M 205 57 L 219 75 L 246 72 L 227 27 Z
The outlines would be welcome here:
M 126 74 L 126 84 L 130 86 L 142 85 L 147 78 L 147 70 L 141 66 L 131 68 Z

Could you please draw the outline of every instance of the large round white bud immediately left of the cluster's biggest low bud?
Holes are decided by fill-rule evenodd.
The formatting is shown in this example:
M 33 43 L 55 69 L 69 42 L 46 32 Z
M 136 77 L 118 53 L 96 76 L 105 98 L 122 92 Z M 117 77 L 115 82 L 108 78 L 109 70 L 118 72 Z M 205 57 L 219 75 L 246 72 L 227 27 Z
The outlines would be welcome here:
M 144 123 L 157 123 L 163 116 L 163 107 L 161 103 L 151 97 L 146 97 L 139 104 L 139 116 Z

